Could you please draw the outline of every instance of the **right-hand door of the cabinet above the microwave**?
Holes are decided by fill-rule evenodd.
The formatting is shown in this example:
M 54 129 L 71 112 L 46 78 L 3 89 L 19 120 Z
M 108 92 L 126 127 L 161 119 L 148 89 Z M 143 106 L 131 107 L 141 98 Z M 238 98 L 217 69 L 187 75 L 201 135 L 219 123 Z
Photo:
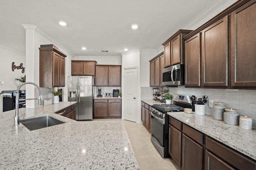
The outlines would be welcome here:
M 171 41 L 171 65 L 180 63 L 180 35 Z

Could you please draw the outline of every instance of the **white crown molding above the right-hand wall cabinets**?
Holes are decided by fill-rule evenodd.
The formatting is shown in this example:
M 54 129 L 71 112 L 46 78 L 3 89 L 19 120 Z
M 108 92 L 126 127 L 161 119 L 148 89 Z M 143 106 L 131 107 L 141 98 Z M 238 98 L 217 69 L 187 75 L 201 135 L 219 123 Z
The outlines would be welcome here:
M 227 1 L 228 0 L 216 0 L 216 1 L 214 1 L 210 6 L 208 6 L 208 8 L 206 8 L 203 12 L 201 12 L 196 18 L 194 18 L 192 21 L 190 21 L 182 29 L 191 29 L 192 27 L 194 27 L 194 25 L 198 24 L 204 18 L 209 16 L 212 12 L 214 12 L 217 8 L 222 6 Z M 217 15 L 217 14 L 214 14 L 214 16 L 215 15 Z

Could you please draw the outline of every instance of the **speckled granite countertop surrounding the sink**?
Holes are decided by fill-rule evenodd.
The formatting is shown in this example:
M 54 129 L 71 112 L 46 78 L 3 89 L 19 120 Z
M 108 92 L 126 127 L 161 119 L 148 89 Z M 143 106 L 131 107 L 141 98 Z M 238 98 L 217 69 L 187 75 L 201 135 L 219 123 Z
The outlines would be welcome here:
M 54 112 L 76 102 L 20 108 L 20 119 L 50 115 L 66 123 L 34 131 L 0 113 L 0 169 L 138 170 L 122 120 L 74 121 Z

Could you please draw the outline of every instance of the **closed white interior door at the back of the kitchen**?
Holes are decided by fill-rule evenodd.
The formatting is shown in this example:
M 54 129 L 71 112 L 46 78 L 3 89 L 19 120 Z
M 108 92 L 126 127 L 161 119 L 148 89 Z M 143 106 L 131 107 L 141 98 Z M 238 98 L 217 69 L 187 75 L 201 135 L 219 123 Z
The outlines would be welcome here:
M 137 120 L 138 68 L 124 68 L 124 88 L 122 90 L 123 117 Z

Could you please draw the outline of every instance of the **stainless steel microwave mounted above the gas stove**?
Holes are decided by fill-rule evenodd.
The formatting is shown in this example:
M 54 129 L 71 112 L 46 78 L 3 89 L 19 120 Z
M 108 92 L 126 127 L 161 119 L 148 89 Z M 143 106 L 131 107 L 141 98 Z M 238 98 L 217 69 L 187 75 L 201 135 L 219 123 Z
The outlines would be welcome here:
M 184 64 L 176 64 L 162 70 L 163 85 L 180 86 L 184 85 Z

